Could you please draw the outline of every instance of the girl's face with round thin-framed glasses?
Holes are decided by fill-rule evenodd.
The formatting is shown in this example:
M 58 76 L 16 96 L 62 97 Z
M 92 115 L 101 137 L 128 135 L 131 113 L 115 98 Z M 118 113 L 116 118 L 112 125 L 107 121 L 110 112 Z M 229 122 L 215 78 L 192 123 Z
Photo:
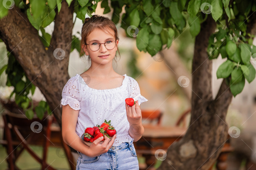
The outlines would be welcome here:
M 111 34 L 107 34 L 100 29 L 96 29 L 88 35 L 86 43 L 90 45 L 83 45 L 83 50 L 86 55 L 90 56 L 92 64 L 93 62 L 98 64 L 107 64 L 112 62 L 114 59 L 118 40 L 116 40 L 114 37 L 114 31 L 111 30 L 110 32 Z M 116 43 L 114 41 L 116 41 Z M 113 49 L 109 48 L 109 50 L 105 47 L 104 43 L 106 44 L 107 48 L 109 46 L 111 47 L 110 43 L 115 43 L 115 47 Z M 99 45 L 100 48 L 95 51 L 94 48 L 99 47 Z

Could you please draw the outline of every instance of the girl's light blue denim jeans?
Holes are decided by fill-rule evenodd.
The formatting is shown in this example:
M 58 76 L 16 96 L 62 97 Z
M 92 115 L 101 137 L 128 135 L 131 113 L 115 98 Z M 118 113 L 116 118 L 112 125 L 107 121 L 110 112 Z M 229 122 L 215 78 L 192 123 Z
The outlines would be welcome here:
M 133 142 L 124 142 L 119 146 L 112 146 L 107 153 L 96 157 L 89 157 L 80 152 L 76 170 L 138 170 L 139 162 Z

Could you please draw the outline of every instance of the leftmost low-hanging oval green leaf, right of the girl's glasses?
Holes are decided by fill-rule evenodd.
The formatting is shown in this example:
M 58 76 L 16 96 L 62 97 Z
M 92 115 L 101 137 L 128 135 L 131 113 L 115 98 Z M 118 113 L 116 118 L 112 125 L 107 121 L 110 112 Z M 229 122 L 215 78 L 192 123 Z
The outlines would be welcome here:
M 147 28 L 142 28 L 136 37 L 136 46 L 140 51 L 143 51 L 149 44 L 149 32 Z

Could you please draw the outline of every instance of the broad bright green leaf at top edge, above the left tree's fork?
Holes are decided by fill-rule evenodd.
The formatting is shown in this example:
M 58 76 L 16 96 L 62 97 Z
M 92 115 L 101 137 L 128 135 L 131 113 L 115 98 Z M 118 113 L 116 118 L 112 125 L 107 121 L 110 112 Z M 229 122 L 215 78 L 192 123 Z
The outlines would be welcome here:
M 45 6 L 46 6 L 46 1 L 45 0 L 30 0 L 31 4 L 31 13 L 33 14 L 33 17 L 35 19 L 40 18 L 41 14 L 43 13 Z

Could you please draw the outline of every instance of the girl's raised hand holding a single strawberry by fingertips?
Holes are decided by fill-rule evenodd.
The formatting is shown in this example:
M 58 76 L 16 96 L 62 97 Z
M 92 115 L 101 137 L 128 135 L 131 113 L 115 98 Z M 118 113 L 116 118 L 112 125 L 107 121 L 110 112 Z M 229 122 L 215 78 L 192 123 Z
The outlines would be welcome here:
M 142 115 L 140 106 L 138 104 L 138 100 L 136 101 L 136 104 L 133 106 L 128 106 L 125 103 L 125 109 L 126 109 L 126 116 L 127 120 L 131 125 L 141 125 Z

